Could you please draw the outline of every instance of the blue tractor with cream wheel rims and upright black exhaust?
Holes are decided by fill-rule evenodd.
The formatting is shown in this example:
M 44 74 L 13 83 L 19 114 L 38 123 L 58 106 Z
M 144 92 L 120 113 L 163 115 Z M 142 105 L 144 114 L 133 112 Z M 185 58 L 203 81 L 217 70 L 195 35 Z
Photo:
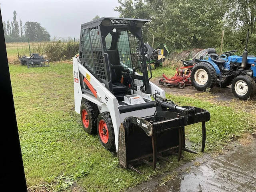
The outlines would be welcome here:
M 242 56 L 234 55 L 238 50 L 224 52 L 218 56 L 214 48 L 200 59 L 183 61 L 184 66 L 194 65 L 191 72 L 192 85 L 200 91 L 214 86 L 226 87 L 232 84 L 234 96 L 242 100 L 256 94 L 256 57 L 248 56 L 247 43 Z

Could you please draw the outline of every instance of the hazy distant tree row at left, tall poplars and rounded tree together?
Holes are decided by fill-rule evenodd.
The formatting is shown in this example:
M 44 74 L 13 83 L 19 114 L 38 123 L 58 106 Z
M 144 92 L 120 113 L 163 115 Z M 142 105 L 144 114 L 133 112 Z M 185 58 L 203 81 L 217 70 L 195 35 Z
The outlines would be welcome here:
M 3 21 L 4 36 L 6 42 L 50 41 L 50 34 L 38 22 L 26 22 L 17 20 L 16 11 L 13 12 L 13 20 Z

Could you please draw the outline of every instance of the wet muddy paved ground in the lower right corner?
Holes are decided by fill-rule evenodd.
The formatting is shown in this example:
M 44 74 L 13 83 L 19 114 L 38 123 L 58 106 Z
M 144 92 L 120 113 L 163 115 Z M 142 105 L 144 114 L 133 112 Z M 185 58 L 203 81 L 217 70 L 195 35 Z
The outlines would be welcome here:
M 208 158 L 188 174 L 180 174 L 165 185 L 147 185 L 135 189 L 144 192 L 255 192 L 256 141 L 237 146 L 233 151 L 216 158 Z M 154 180 L 154 179 L 153 179 Z M 152 182 L 154 183 L 154 182 Z M 146 186 L 146 187 L 145 187 Z M 140 189 L 140 190 L 139 190 Z M 131 190 L 134 191 L 134 190 Z

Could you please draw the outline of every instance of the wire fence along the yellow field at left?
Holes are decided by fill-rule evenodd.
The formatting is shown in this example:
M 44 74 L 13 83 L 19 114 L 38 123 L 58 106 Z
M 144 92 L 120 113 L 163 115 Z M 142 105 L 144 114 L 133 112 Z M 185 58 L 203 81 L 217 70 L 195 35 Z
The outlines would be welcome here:
M 47 48 L 50 44 L 68 44 L 68 42 L 79 42 L 80 38 L 51 38 L 47 42 L 11 42 L 6 43 L 6 51 L 8 62 L 13 63 L 19 61 L 21 56 L 30 56 L 32 53 L 38 53 L 40 55 L 46 54 Z

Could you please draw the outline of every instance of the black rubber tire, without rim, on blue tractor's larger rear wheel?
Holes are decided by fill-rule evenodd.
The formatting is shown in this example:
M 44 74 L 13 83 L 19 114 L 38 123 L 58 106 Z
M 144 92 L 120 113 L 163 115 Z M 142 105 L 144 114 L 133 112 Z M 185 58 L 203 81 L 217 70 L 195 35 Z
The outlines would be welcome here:
M 194 80 L 194 75 L 195 72 L 198 69 L 204 69 L 207 74 L 208 74 L 208 80 L 206 82 L 206 84 L 204 85 L 199 85 L 196 83 L 196 81 Z M 192 81 L 192 85 L 199 91 L 205 91 L 207 88 L 212 89 L 215 85 L 216 85 L 216 81 L 217 81 L 217 76 L 216 76 L 216 71 L 214 69 L 214 67 L 207 62 L 200 62 L 197 63 L 193 68 L 192 68 L 192 72 L 191 72 L 191 81 Z

